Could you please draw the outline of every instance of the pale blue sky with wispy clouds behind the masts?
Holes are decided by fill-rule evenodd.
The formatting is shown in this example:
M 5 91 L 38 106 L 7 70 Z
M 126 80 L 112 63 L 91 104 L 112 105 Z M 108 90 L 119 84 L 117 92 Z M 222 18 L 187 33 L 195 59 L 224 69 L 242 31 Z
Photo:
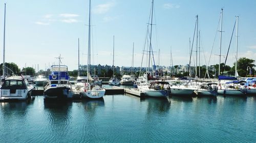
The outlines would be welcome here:
M 0 57 L 3 62 L 4 7 L 6 3 L 6 59 L 23 67 L 45 70 L 61 64 L 69 70 L 78 68 L 78 38 L 80 64 L 87 65 L 89 0 L 4 0 L 0 2 Z M 147 32 L 151 0 L 93 0 L 91 26 L 91 64 L 140 67 Z M 224 63 L 233 25 L 239 16 L 238 58 L 256 61 L 256 1 L 154 1 L 152 47 L 156 65 L 170 66 L 189 63 L 189 38 L 192 43 L 196 15 L 200 31 L 200 65 L 219 64 L 220 26 L 223 8 L 222 54 Z M 113 42 L 115 36 L 115 43 Z M 236 31 L 230 45 L 227 65 L 236 61 Z M 191 44 L 190 44 L 191 45 Z M 195 49 L 195 44 L 193 49 Z M 211 53 L 212 50 L 212 54 Z M 160 52 L 158 52 L 160 51 Z M 198 52 L 199 53 L 199 52 Z M 193 52 L 192 65 L 195 65 Z M 211 56 L 210 56 L 211 55 Z M 211 58 L 210 58 L 211 57 Z M 210 60 L 209 60 L 210 58 Z M 199 57 L 198 57 L 199 59 Z M 146 66 L 145 56 L 143 67 Z M 198 61 L 199 63 L 199 61 Z M 256 63 L 254 63 L 256 64 Z

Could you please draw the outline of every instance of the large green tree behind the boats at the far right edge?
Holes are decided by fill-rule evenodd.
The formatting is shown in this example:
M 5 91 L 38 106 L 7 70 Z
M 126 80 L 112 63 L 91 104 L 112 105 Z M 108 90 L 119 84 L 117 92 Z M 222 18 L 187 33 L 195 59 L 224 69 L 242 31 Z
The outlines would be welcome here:
M 254 67 L 255 65 L 253 64 L 255 61 L 252 59 L 247 59 L 247 58 L 240 58 L 237 62 L 237 69 L 238 69 L 238 75 L 245 77 L 247 74 L 249 74 L 249 71 L 247 70 L 247 67 L 251 68 L 251 72 L 254 73 Z M 248 68 L 249 69 L 249 68 Z M 234 66 L 231 69 L 231 72 L 234 75 L 234 71 L 236 70 L 236 63 L 234 63 Z

